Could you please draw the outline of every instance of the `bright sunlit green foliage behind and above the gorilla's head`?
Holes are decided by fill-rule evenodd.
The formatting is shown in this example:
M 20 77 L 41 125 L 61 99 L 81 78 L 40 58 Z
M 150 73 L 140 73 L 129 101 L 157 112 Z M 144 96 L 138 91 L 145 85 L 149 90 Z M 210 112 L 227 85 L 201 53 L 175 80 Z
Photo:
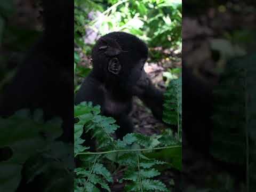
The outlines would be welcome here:
M 99 3 L 102 2 L 102 3 Z M 147 41 L 150 47 L 181 45 L 180 0 L 94 1 L 75 0 L 75 42 L 83 45 L 84 29 L 92 28 L 100 35 L 110 31 L 126 31 Z M 88 20 L 88 13 L 100 11 L 100 17 Z M 95 28 L 101 23 L 99 29 Z

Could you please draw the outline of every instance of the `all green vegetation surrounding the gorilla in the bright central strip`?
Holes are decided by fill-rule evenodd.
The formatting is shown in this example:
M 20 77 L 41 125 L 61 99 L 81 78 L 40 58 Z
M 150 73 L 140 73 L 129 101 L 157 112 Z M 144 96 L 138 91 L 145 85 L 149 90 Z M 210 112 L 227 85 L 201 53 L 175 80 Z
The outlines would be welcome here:
M 85 41 L 90 36 L 88 31 L 97 37 L 111 31 L 136 35 L 149 46 L 149 62 L 163 60 L 161 65 L 164 67 L 171 59 L 180 59 L 172 58 L 170 53 L 181 51 L 181 19 L 181 1 L 109 0 L 94 3 L 76 0 L 75 91 L 90 71 L 89 59 L 85 58 L 89 57 L 87 55 L 97 39 Z M 169 54 L 166 55 L 164 50 Z M 170 169 L 182 169 L 182 82 L 181 70 L 165 68 L 164 121 L 170 127 L 178 127 L 178 133 L 171 129 L 150 136 L 135 132 L 115 140 L 112 135 L 119 127 L 115 119 L 100 115 L 100 106 L 93 107 L 91 102 L 75 106 L 75 157 L 81 162 L 75 169 L 75 191 L 114 191 L 118 185 L 124 191 L 170 191 L 174 187 L 173 178 L 169 177 L 166 182 L 161 175 Z M 81 139 L 83 130 L 93 132 L 98 144 L 97 153 L 91 153 L 90 147 L 83 145 L 86 143 Z

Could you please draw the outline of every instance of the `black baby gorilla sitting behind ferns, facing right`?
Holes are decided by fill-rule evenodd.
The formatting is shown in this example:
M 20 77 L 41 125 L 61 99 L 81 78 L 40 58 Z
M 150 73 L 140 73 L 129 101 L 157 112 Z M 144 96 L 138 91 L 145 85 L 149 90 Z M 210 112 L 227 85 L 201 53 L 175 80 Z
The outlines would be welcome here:
M 163 92 L 147 77 L 143 68 L 147 57 L 147 45 L 134 35 L 113 32 L 102 36 L 92 50 L 93 69 L 76 94 L 76 105 L 91 101 L 101 106 L 102 115 L 116 119 L 119 139 L 133 132 L 129 117 L 133 96 L 141 99 L 162 121 Z

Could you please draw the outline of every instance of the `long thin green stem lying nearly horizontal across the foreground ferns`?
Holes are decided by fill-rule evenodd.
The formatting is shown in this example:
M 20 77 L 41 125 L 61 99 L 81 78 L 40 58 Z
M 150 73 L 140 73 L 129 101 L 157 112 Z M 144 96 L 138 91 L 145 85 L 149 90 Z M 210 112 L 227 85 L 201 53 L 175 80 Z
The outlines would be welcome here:
M 170 148 L 178 148 L 180 146 L 167 146 L 167 147 L 157 147 L 152 149 L 121 149 L 121 150 L 111 150 L 111 151 L 103 151 L 103 152 L 86 152 L 86 153 L 78 153 L 75 155 L 100 155 L 100 154 L 109 154 L 109 153 L 118 153 L 118 152 L 137 152 L 137 151 L 148 151 L 148 150 L 158 150 L 158 149 L 170 149 Z

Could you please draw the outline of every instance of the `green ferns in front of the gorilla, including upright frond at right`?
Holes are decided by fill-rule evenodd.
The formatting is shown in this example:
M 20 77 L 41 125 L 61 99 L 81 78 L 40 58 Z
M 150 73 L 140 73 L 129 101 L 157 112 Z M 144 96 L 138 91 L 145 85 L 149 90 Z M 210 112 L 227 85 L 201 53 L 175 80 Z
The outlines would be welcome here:
M 178 133 L 170 129 L 161 135 L 146 136 L 130 133 L 122 140 L 115 140 L 112 134 L 119 128 L 115 119 L 100 115 L 100 106 L 83 102 L 75 106 L 75 157 L 82 162 L 75 169 L 75 192 L 106 191 L 114 181 L 113 175 L 123 172 L 119 183 L 124 191 L 170 191 L 165 183 L 157 179 L 167 168 L 181 170 L 181 77 L 171 81 L 164 103 L 164 121 L 178 127 Z M 91 153 L 81 139 L 83 131 L 92 131 L 97 140 L 97 153 Z M 157 157 L 157 151 L 170 154 L 167 161 Z M 161 153 L 158 153 L 158 156 Z

